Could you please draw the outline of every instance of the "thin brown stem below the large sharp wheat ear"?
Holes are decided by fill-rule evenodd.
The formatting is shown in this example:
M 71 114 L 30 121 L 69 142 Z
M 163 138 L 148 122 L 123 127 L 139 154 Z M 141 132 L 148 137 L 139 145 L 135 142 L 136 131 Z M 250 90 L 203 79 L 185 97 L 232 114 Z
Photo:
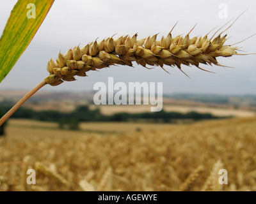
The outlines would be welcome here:
M 44 85 L 46 85 L 45 80 L 42 80 L 34 89 L 28 92 L 18 103 L 16 103 L 1 119 L 0 119 L 0 126 L 13 114 L 15 113 L 18 108 L 25 103 L 36 91 L 41 89 Z

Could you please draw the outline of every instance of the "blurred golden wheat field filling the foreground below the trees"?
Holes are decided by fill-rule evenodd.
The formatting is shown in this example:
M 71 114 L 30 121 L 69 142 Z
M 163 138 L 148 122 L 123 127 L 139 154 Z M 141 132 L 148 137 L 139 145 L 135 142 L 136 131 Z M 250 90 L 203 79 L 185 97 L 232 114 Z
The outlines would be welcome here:
M 255 117 L 116 134 L 10 125 L 0 191 L 256 191 L 255 133 Z

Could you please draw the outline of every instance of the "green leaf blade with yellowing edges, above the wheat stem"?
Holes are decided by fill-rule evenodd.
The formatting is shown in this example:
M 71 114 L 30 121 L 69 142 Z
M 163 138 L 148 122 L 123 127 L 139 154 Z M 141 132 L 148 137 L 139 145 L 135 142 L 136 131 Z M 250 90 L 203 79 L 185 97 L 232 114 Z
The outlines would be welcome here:
M 54 0 L 19 0 L 5 25 L 0 39 L 0 83 L 44 21 Z

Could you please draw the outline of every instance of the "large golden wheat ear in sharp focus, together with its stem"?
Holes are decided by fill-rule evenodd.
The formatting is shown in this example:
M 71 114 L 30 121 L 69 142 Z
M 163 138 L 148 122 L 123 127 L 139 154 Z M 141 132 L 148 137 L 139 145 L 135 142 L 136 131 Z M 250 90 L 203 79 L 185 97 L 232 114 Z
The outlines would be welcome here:
M 219 34 L 214 39 L 213 36 L 209 39 L 207 35 L 189 38 L 191 31 L 186 36 L 179 35 L 175 38 L 172 37 L 171 31 L 165 38 L 163 36 L 161 40 L 157 40 L 157 34 L 141 40 L 137 40 L 137 34 L 132 37 L 128 35 L 120 36 L 115 40 L 112 36 L 100 42 L 95 40 L 82 48 L 79 46 L 73 49 L 70 48 L 65 54 L 60 53 L 56 61 L 51 59 L 48 62 L 47 71 L 50 75 L 0 119 L 0 126 L 45 84 L 55 86 L 60 85 L 63 81 L 74 81 L 76 75 L 86 77 L 86 73 L 91 70 L 108 68 L 116 64 L 132 66 L 132 62 L 135 61 L 145 68 L 150 65 L 160 66 L 164 69 L 163 66 L 166 65 L 177 66 L 182 71 L 182 64 L 196 66 L 198 69 L 202 69 L 199 66 L 200 64 L 222 66 L 218 63 L 216 57 L 241 55 L 236 52 L 238 47 L 224 45 L 227 34 L 222 37 Z M 184 74 L 186 75 L 186 73 Z

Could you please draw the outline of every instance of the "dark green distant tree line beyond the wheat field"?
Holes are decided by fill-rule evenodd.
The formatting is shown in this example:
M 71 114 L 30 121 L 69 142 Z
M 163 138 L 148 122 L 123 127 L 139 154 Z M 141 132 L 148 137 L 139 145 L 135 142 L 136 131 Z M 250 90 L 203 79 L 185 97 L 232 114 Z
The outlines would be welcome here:
M 8 112 L 10 106 L 0 106 L 1 112 Z M 30 108 L 21 107 L 12 115 L 16 119 L 33 119 L 49 122 L 58 122 L 61 129 L 79 129 L 79 122 L 127 122 L 127 121 L 145 121 L 145 122 L 175 122 L 177 120 L 205 120 L 219 119 L 211 113 L 198 112 L 145 112 L 145 113 L 114 113 L 113 115 L 103 115 L 99 108 L 90 109 L 89 106 L 77 106 L 69 113 L 54 110 L 35 111 Z M 1 134 L 1 129 L 0 129 Z

